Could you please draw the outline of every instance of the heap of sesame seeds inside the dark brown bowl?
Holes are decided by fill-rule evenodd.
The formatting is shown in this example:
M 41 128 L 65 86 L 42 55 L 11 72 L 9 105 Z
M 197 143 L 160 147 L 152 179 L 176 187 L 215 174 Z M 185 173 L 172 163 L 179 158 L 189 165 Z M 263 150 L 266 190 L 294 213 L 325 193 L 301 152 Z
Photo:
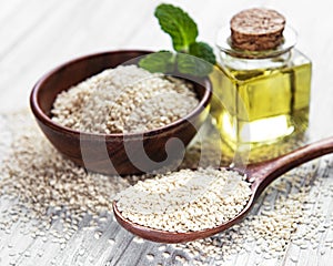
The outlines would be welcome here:
M 82 132 L 133 133 L 168 125 L 198 104 L 183 80 L 120 65 L 60 93 L 51 113 L 54 122 Z

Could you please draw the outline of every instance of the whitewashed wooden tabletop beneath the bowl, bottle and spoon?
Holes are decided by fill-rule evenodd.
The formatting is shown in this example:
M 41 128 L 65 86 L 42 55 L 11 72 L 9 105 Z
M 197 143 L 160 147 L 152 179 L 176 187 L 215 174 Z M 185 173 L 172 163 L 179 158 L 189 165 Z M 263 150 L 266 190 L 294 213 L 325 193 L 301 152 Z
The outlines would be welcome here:
M 9 124 L 18 117 L 14 114 L 17 112 L 31 120 L 28 110 L 29 94 L 43 73 L 69 59 L 88 53 L 119 49 L 171 48 L 169 37 L 161 32 L 153 17 L 158 2 L 160 1 L 0 1 L 0 164 L 14 134 Z M 255 0 L 251 3 L 245 0 L 169 2 L 181 6 L 195 18 L 200 39 L 210 43 L 214 42 L 218 29 L 228 24 L 231 14 L 241 9 L 264 6 L 285 14 L 289 23 L 297 30 L 299 50 L 313 61 L 309 140 L 315 141 L 333 135 L 332 3 L 323 0 L 316 2 Z M 211 245 L 215 249 L 211 254 L 200 250 L 199 245 L 199 254 L 191 256 L 189 246 L 178 247 L 138 239 L 112 222 L 112 218 L 99 237 L 91 237 L 90 231 L 78 228 L 63 248 L 59 243 L 41 241 L 42 235 L 29 237 L 22 234 L 18 226 L 6 228 L 4 223 L 1 224 L 2 214 L 0 214 L 0 265 L 195 265 L 202 263 L 242 266 L 329 266 L 333 260 L 332 161 L 332 156 L 325 156 L 293 172 L 301 177 L 302 173 L 306 173 L 310 176 L 307 178 L 313 182 L 313 188 L 306 191 L 310 195 L 306 201 L 312 201 L 316 207 L 311 208 L 306 215 L 310 215 L 311 221 L 313 217 L 320 216 L 320 218 L 312 225 L 306 222 L 299 223 L 299 227 L 293 231 L 279 256 L 266 256 L 264 248 L 258 249 L 256 247 L 264 239 L 255 237 L 250 248 L 245 247 L 245 244 L 244 246 L 238 244 L 235 247 L 235 244 L 229 241 L 220 246 L 222 252 L 219 252 L 216 249 L 219 236 L 214 242 L 212 241 Z M 279 193 L 289 201 L 287 194 L 292 193 L 292 188 L 281 192 L 279 187 L 281 188 L 281 184 L 272 186 L 269 193 L 260 198 L 252 216 L 264 215 L 264 207 L 269 204 L 274 206 Z M 322 192 L 322 187 L 327 190 Z M 8 201 L 3 200 L 2 195 L 1 212 L 7 208 L 7 204 Z M 317 215 L 317 211 L 321 215 Z M 17 223 L 19 225 L 20 221 Z M 324 229 L 316 232 L 313 228 L 321 226 L 324 226 Z M 313 236 L 306 237 L 304 231 L 315 234 L 316 241 L 313 241 Z M 111 244 L 110 238 L 113 239 Z M 220 238 L 223 241 L 223 235 Z M 108 239 L 109 245 L 105 244 Z M 297 244 L 297 241 L 303 244 Z M 228 245 L 230 249 L 235 248 L 235 252 L 224 254 L 223 250 L 229 249 Z M 205 249 L 206 246 L 209 244 L 205 243 Z M 84 252 L 81 252 L 82 249 Z

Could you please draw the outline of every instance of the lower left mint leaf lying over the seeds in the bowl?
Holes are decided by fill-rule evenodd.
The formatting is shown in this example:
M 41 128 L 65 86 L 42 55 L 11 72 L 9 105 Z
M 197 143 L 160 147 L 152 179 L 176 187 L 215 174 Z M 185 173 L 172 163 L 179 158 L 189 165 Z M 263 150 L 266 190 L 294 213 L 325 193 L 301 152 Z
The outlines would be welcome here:
M 174 54 L 169 51 L 160 51 L 144 55 L 139 61 L 139 66 L 155 73 L 170 73 L 174 71 Z

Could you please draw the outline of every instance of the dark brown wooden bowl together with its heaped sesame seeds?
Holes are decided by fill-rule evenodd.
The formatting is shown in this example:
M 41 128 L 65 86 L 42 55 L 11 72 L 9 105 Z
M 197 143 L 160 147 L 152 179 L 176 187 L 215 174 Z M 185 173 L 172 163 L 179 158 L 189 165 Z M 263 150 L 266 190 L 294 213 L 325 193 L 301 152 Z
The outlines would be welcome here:
M 209 79 L 150 73 L 150 51 L 84 55 L 33 86 L 30 106 L 48 140 L 93 172 L 139 174 L 174 168 L 209 116 Z

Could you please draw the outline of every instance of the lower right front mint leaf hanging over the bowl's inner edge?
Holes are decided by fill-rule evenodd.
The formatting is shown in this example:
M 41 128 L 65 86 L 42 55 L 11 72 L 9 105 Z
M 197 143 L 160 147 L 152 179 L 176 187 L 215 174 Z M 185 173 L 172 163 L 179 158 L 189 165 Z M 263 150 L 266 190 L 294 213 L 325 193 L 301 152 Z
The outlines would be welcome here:
M 210 62 L 186 53 L 178 53 L 176 63 L 180 73 L 193 76 L 206 76 L 213 69 Z

